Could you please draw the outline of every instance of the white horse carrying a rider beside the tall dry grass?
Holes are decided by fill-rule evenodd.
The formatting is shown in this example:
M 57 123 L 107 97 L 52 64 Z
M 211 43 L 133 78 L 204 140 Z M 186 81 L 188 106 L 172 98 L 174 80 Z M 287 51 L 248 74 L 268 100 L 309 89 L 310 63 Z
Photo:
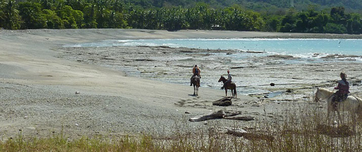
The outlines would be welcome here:
M 338 102 L 337 108 L 334 109 L 333 105 L 332 105 L 332 95 L 333 95 L 333 93 L 334 93 L 333 91 L 318 88 L 317 91 L 315 92 L 314 101 L 318 102 L 319 99 L 322 99 L 322 100 L 327 99 L 327 119 L 328 119 L 328 123 L 330 122 L 329 114 L 330 114 L 331 110 L 337 111 L 338 119 L 339 119 L 340 123 L 342 123 L 342 119 L 341 119 L 341 116 L 339 114 L 339 111 L 349 111 L 350 115 L 352 117 L 352 121 L 354 123 L 353 129 L 355 129 L 356 115 L 358 114 L 358 112 L 362 112 L 361 111 L 362 110 L 362 99 L 349 95 L 346 100 Z

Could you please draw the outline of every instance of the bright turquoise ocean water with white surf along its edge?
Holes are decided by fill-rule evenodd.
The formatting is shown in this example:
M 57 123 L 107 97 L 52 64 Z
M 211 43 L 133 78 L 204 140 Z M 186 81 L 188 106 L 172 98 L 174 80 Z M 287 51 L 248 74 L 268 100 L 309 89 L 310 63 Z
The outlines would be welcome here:
M 159 39 L 106 40 L 65 47 L 169 46 L 200 49 L 265 51 L 264 55 L 281 54 L 294 57 L 321 57 L 329 54 L 362 56 L 362 39 Z M 316 56 L 317 55 L 317 56 Z M 357 58 L 361 61 L 361 59 Z

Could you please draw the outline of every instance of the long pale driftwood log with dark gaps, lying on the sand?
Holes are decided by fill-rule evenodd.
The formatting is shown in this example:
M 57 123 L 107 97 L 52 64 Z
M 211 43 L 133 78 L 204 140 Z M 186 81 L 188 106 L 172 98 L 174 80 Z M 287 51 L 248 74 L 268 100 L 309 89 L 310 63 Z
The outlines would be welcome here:
M 234 111 L 219 110 L 219 111 L 216 111 L 213 113 L 208 113 L 205 115 L 190 118 L 188 121 L 201 122 L 201 121 L 206 121 L 206 120 L 211 120 L 211 119 L 229 119 L 229 120 L 242 120 L 242 121 L 254 120 L 254 117 L 233 117 L 236 115 L 240 115 L 241 113 L 242 112 L 240 112 L 240 111 L 234 112 Z

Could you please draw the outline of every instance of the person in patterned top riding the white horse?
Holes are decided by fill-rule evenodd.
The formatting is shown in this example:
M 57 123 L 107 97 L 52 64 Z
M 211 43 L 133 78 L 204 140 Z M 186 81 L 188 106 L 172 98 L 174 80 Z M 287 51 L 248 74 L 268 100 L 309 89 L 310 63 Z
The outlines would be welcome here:
M 336 93 L 333 94 L 332 97 L 332 104 L 336 108 L 337 102 L 341 102 L 345 100 L 349 93 L 349 83 L 346 80 L 347 74 L 344 72 L 340 73 L 341 80 L 338 81 L 338 86 L 334 87 L 334 89 L 338 90 Z

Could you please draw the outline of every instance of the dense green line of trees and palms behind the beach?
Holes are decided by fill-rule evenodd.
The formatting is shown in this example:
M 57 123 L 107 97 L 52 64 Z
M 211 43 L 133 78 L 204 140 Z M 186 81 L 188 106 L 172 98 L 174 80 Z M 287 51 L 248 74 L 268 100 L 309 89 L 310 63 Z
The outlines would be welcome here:
M 142 1 L 140 1 L 142 2 Z M 317 11 L 291 8 L 266 14 L 238 5 L 214 9 L 205 3 L 191 8 L 142 8 L 122 0 L 0 0 L 0 27 L 5 29 L 141 28 L 240 31 L 362 33 L 362 17 L 343 7 Z

